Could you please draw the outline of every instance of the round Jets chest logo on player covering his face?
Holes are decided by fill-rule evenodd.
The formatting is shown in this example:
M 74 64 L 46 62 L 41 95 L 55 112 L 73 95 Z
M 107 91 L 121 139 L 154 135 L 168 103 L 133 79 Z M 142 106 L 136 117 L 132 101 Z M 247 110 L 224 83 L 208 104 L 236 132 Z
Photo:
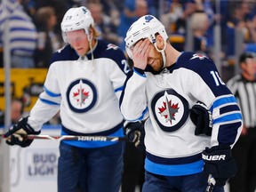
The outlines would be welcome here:
M 188 101 L 172 89 L 156 93 L 151 109 L 158 126 L 164 132 L 174 132 L 188 119 Z

